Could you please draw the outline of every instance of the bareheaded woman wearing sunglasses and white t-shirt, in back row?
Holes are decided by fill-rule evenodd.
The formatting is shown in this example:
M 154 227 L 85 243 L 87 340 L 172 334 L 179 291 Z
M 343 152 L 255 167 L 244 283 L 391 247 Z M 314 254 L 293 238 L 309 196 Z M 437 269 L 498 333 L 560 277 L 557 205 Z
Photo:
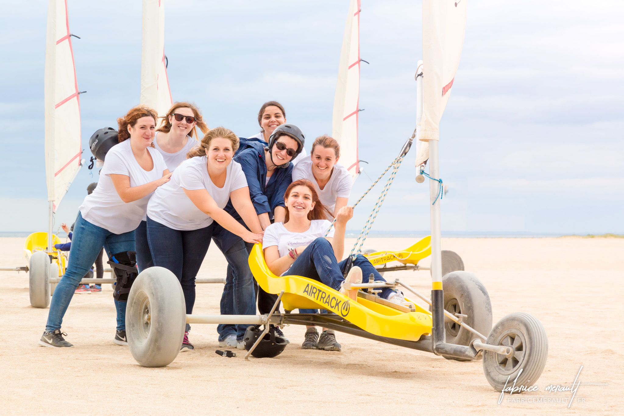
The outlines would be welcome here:
M 195 105 L 189 102 L 177 102 L 167 114 L 160 117 L 160 127 L 156 130 L 154 147 L 162 155 L 169 172 L 184 162 L 187 153 L 197 146 L 197 128 L 203 133 L 208 132 L 208 125 L 203 121 L 202 114 Z M 154 266 L 149 244 L 147 244 L 147 218 L 143 218 L 136 231 L 137 264 L 139 271 Z

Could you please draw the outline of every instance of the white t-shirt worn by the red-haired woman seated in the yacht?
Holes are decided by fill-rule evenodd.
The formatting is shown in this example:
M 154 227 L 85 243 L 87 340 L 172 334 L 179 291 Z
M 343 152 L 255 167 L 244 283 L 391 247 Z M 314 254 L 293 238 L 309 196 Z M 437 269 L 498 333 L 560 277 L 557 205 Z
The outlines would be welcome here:
M 277 246 L 280 257 L 283 257 L 288 255 L 290 249 L 307 246 L 315 239 L 324 237 L 329 226 L 331 226 L 331 223 L 328 220 L 312 220 L 310 221 L 310 228 L 305 233 L 291 233 L 286 230 L 284 223 L 273 223 L 265 229 L 265 235 L 262 238 L 262 248 Z M 327 236 L 334 236 L 333 227 Z M 287 271 L 282 273 L 281 276 L 284 276 Z

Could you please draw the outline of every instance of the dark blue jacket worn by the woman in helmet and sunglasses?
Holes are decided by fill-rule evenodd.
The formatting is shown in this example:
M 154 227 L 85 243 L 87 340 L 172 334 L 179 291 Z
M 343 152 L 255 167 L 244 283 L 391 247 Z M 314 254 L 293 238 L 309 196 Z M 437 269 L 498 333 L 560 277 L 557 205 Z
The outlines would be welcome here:
M 241 168 L 243 168 L 243 173 L 245 173 L 245 177 L 247 178 L 247 186 L 249 186 L 249 196 L 251 197 L 251 202 L 256 210 L 256 214 L 260 215 L 267 212 L 269 213 L 269 218 L 273 218 L 273 211 L 276 206 L 285 207 L 284 193 L 286 193 L 288 185 L 293 182 L 293 163 L 288 162 L 288 167 L 286 168 L 276 168 L 273 175 L 271 175 L 269 183 L 265 186 L 266 146 L 268 146 L 268 143 L 260 139 L 241 138 L 240 146 L 238 150 L 236 150 L 233 159 L 240 163 Z M 232 200 L 228 201 L 228 205 L 225 206 L 224 209 L 227 213 L 232 215 L 235 220 L 245 225 L 245 222 L 234 209 Z M 218 225 L 215 225 L 213 237 L 215 237 L 215 241 L 217 239 L 220 240 L 217 244 L 222 251 L 226 251 L 232 247 L 232 244 L 240 239 L 240 237 Z

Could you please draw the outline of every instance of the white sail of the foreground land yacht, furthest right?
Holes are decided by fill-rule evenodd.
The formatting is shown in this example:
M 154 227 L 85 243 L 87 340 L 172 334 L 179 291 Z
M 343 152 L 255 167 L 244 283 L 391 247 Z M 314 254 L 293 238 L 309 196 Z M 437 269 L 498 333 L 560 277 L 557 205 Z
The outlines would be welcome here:
M 467 0 L 422 1 L 422 57 L 424 109 L 418 128 L 422 142 L 439 140 L 439 124 L 451 95 L 466 31 Z M 416 166 L 429 158 L 426 143 L 419 148 Z

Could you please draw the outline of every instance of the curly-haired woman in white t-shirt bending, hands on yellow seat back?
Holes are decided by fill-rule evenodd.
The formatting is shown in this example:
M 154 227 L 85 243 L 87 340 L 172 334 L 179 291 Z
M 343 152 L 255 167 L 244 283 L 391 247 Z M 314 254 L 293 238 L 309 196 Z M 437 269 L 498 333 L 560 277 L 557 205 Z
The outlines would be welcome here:
M 187 314 L 195 304 L 195 276 L 202 266 L 215 225 L 229 230 L 242 243 L 238 249 L 224 251 L 228 267 L 237 274 L 251 274 L 245 241 L 261 241 L 262 229 L 249 196 L 247 180 L 240 164 L 232 157 L 238 137 L 224 127 L 213 128 L 202 142 L 188 153 L 188 159 L 173 172 L 172 180 L 161 187 L 147 206 L 147 238 L 155 266 L 169 269 L 182 286 Z M 248 231 L 223 210 L 228 201 L 240 213 Z M 229 314 L 255 314 L 253 283 L 241 289 L 240 302 Z M 233 307 L 233 308 L 234 308 Z M 223 312 L 223 303 L 222 303 Z M 241 326 L 242 327 L 242 326 Z M 180 351 L 193 349 L 188 341 L 187 324 Z M 241 328 L 241 340 L 245 331 Z

